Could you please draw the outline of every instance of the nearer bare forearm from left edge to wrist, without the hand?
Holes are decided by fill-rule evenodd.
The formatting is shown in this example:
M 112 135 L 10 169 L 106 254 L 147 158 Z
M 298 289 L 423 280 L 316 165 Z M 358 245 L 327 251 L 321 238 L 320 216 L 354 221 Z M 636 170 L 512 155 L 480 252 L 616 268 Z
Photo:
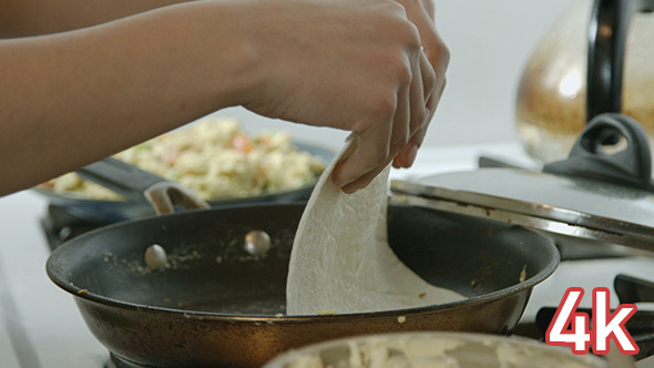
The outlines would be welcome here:
M 1 194 L 237 104 L 256 61 L 224 34 L 245 11 L 207 1 L 0 40 Z

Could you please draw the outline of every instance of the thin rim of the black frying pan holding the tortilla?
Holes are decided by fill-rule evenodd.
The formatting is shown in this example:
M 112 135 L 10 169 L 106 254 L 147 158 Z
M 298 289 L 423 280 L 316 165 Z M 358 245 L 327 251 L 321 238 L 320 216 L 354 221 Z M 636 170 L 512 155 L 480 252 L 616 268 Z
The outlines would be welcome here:
M 212 320 L 229 320 L 229 321 L 243 321 L 243 323 L 270 323 L 270 321 L 288 321 L 288 323 L 315 323 L 316 320 L 321 321 L 345 321 L 348 319 L 378 319 L 378 318 L 388 318 L 388 317 L 396 317 L 396 316 L 418 316 L 422 314 L 429 314 L 433 311 L 438 311 L 440 309 L 453 309 L 460 306 L 469 306 L 469 305 L 478 305 L 484 304 L 491 300 L 497 300 L 499 298 L 509 297 L 512 295 L 517 295 L 523 293 L 525 290 L 531 290 L 535 285 L 542 283 L 544 279 L 550 277 L 554 270 L 558 268 L 561 256 L 559 251 L 550 237 L 546 237 L 542 234 L 539 234 L 528 227 L 514 225 L 512 228 L 518 228 L 520 231 L 529 232 L 538 237 L 540 237 L 543 242 L 544 249 L 548 249 L 550 255 L 552 256 L 550 263 L 544 267 L 541 272 L 533 275 L 532 277 L 525 279 L 522 283 L 504 287 L 502 289 L 472 296 L 462 300 L 450 301 L 444 304 L 438 305 L 430 305 L 423 307 L 415 307 L 415 308 L 403 308 L 403 309 L 392 309 L 392 310 L 382 310 L 382 311 L 368 311 L 368 313 L 354 313 L 354 314 L 337 314 L 337 315 L 309 315 L 309 316 L 297 316 L 297 315 L 283 315 L 283 316 L 262 316 L 262 315 L 231 315 L 224 313 L 213 313 L 213 311 L 201 311 L 201 310 L 188 310 L 188 309 L 176 309 L 176 308 L 166 308 L 166 307 L 159 307 L 159 306 L 149 306 L 144 304 L 136 304 L 131 301 L 121 301 L 114 298 L 105 297 L 99 294 L 94 294 L 91 290 L 85 288 L 81 288 L 72 283 L 64 282 L 61 277 L 59 277 L 59 272 L 55 270 L 54 260 L 58 258 L 59 253 L 62 253 L 67 248 L 80 246 L 79 244 L 84 244 L 84 239 L 88 237 L 93 237 L 96 233 L 106 232 L 114 227 L 122 227 L 130 224 L 137 225 L 139 223 L 147 222 L 147 221 L 156 221 L 168 216 L 177 216 L 184 215 L 190 213 L 201 213 L 201 212 L 214 212 L 216 209 L 224 211 L 224 209 L 238 209 L 243 207 L 247 208 L 256 208 L 256 207 L 280 207 L 280 206 L 295 206 L 298 204 L 306 204 L 303 201 L 290 201 L 290 202 L 282 202 L 282 203 L 257 203 L 257 204 L 235 204 L 231 206 L 219 207 L 219 208 L 207 208 L 207 209 L 190 209 L 184 211 L 183 213 L 172 213 L 165 215 L 152 215 L 145 216 L 137 219 L 129 219 L 115 224 L 111 224 L 101 228 L 96 228 L 84 233 L 69 242 L 57 247 L 48 257 L 45 263 L 45 273 L 48 277 L 60 288 L 65 290 L 67 293 L 71 294 L 75 298 L 80 298 L 85 301 L 96 303 L 103 306 L 111 306 L 116 308 L 123 308 L 129 310 L 136 310 L 136 311 L 149 311 L 149 313 L 157 313 L 157 314 L 165 314 L 168 316 L 174 316 L 176 318 L 184 318 L 184 319 L 212 319 Z M 391 204 L 389 204 L 391 205 Z M 545 245 L 548 244 L 548 245 Z M 63 249 L 63 251 L 61 251 Z M 76 301 L 76 300 L 75 300 Z

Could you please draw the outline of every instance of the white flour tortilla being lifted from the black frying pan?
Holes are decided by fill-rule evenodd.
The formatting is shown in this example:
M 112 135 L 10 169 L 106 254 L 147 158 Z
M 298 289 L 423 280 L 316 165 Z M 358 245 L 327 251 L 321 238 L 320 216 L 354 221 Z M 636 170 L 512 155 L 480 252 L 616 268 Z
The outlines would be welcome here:
M 345 194 L 331 182 L 349 140 L 325 170 L 302 216 L 286 284 L 287 315 L 367 313 L 412 308 L 463 296 L 421 279 L 387 241 L 386 167 L 366 188 Z

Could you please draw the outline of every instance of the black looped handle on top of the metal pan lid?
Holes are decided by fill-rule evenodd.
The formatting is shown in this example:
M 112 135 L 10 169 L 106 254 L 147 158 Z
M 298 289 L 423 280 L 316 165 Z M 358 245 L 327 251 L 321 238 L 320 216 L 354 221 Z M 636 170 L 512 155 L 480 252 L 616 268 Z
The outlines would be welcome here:
M 544 165 L 543 172 L 654 191 L 647 135 L 634 119 L 619 113 L 591 120 L 569 159 Z

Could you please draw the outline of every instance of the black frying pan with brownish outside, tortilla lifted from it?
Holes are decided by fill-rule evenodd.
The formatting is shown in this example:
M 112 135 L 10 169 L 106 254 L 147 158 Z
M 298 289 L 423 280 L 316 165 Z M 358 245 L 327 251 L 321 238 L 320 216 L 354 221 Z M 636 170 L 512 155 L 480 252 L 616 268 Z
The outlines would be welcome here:
M 553 243 L 522 227 L 432 209 L 389 207 L 389 242 L 426 280 L 467 300 L 406 310 L 285 316 L 294 233 L 304 204 L 192 211 L 111 225 L 57 248 L 50 278 L 75 297 L 93 335 L 125 361 L 156 367 L 258 367 L 289 348 L 402 330 L 509 334 L 534 285 L 558 266 Z M 244 235 L 273 239 L 264 257 Z M 174 267 L 143 273 L 161 244 Z

